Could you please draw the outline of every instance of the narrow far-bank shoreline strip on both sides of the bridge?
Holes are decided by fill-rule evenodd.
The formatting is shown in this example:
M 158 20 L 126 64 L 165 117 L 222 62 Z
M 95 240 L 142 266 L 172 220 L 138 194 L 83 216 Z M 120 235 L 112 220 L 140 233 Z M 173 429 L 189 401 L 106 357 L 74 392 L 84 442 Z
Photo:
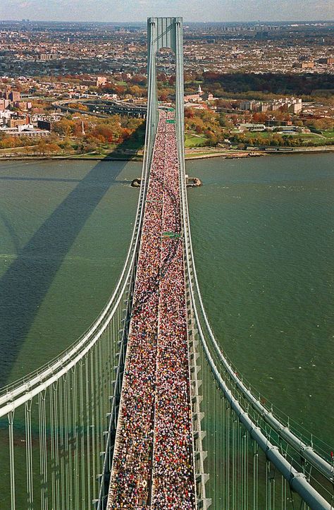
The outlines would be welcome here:
M 267 155 L 287 155 L 287 154 L 325 154 L 326 152 L 334 152 L 334 145 L 324 145 L 322 147 L 295 147 L 293 150 L 257 150 L 257 151 L 249 151 L 249 150 L 240 150 L 235 152 L 211 152 L 211 153 L 196 153 L 196 152 L 188 152 L 185 153 L 185 160 L 191 159 L 210 159 L 213 157 L 221 157 L 223 159 L 241 159 L 241 158 L 252 158 L 252 157 L 263 157 Z M 85 156 L 85 155 L 70 155 L 70 156 L 4 156 L 2 157 L 0 154 L 0 162 L 1 161 L 63 161 L 74 159 L 75 161 L 123 161 L 123 162 L 142 162 L 143 157 L 101 157 L 101 156 Z

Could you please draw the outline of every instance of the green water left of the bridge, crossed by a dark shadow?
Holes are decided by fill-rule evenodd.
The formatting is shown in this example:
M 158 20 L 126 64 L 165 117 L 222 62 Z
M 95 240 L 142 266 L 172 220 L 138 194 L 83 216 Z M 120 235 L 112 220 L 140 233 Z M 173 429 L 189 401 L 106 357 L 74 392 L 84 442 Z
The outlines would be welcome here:
M 113 291 L 138 191 L 123 162 L 0 164 L 0 373 L 14 380 L 70 345 Z

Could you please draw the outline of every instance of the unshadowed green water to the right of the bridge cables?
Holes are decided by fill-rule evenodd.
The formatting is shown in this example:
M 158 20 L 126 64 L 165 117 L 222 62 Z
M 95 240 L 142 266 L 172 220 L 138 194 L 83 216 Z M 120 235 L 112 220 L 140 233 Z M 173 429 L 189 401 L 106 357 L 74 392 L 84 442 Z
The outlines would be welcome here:
M 240 374 L 334 443 L 334 155 L 192 162 L 194 255 L 214 332 Z M 330 451 L 328 451 L 328 456 Z

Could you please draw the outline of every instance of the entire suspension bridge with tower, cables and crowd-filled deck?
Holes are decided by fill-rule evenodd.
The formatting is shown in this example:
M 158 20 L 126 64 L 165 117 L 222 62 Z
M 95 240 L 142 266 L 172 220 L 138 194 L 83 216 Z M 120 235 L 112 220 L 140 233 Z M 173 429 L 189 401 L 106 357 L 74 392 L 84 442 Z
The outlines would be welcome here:
M 197 280 L 183 21 L 149 18 L 135 227 L 116 289 L 65 352 L 0 391 L 1 509 L 334 509 L 330 449 L 237 372 Z M 175 109 L 156 53 L 175 54 Z

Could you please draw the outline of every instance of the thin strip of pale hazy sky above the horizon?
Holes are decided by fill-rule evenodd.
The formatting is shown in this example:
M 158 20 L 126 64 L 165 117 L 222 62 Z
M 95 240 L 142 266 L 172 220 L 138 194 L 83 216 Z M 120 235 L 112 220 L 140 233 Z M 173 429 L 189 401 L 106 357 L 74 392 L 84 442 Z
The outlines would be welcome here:
M 333 0 L 0 0 L 0 19 L 144 21 L 333 20 Z

